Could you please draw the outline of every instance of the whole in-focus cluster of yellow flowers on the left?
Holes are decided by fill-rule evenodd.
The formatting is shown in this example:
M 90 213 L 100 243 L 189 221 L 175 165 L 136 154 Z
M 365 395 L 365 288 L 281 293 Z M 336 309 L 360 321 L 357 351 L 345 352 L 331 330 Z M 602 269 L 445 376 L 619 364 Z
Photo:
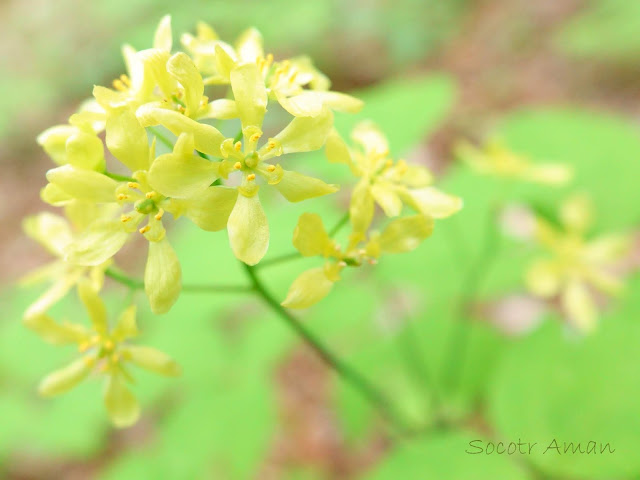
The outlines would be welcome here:
M 138 416 L 125 386 L 127 363 L 165 375 L 178 372 L 165 354 L 127 343 L 136 333 L 134 307 L 113 328 L 107 325 L 98 295 L 105 274 L 114 277 L 114 256 L 133 237 L 148 243 L 144 290 L 151 310 L 165 313 L 182 289 L 167 227 L 186 218 L 205 231 L 226 230 L 233 255 L 257 264 L 270 236 L 262 189 L 273 188 L 289 202 L 336 192 L 337 185 L 286 168 L 290 154 L 325 147 L 329 161 L 348 165 L 358 179 L 349 207 L 352 233 L 343 249 L 317 215 L 300 217 L 294 246 L 304 256 L 325 258 L 324 267 L 294 281 L 283 302 L 305 308 L 329 292 L 343 268 L 415 249 L 430 235 L 434 219 L 462 206 L 459 198 L 431 185 L 425 167 L 394 161 L 373 124 L 358 125 L 352 134 L 357 148 L 349 148 L 333 127 L 334 112 L 355 113 L 362 102 L 331 91 L 327 77 L 307 57 L 276 60 L 265 53 L 255 29 L 231 45 L 204 23 L 195 36 L 181 37 L 185 51 L 173 53 L 173 43 L 165 17 L 151 48 L 123 48 L 126 73 L 109 88 L 94 87 L 93 98 L 67 124 L 38 137 L 56 164 L 47 172 L 41 197 L 62 207 L 65 217 L 42 213 L 24 224 L 57 259 L 27 279 L 52 286 L 29 307 L 25 323 L 45 340 L 77 343 L 88 352 L 47 377 L 41 392 L 62 393 L 91 372 L 103 372 L 105 402 L 116 425 Z M 225 88 L 226 95 L 210 98 Z M 273 119 L 268 112 L 275 112 Z M 281 128 L 273 128 L 283 117 L 288 120 Z M 226 121 L 231 128 L 237 125 L 237 133 L 223 133 Z M 264 134 L 272 128 L 277 133 Z M 388 217 L 399 217 L 405 205 L 414 214 L 394 218 L 379 233 L 372 228 L 376 204 Z M 74 286 L 92 331 L 49 316 Z

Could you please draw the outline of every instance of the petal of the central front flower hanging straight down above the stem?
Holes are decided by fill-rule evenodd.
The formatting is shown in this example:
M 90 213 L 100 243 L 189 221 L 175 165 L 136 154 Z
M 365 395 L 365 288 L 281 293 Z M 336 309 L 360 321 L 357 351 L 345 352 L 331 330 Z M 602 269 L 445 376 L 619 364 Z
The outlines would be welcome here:
M 227 225 L 229 243 L 238 260 L 258 263 L 269 248 L 269 224 L 258 195 L 238 195 Z

